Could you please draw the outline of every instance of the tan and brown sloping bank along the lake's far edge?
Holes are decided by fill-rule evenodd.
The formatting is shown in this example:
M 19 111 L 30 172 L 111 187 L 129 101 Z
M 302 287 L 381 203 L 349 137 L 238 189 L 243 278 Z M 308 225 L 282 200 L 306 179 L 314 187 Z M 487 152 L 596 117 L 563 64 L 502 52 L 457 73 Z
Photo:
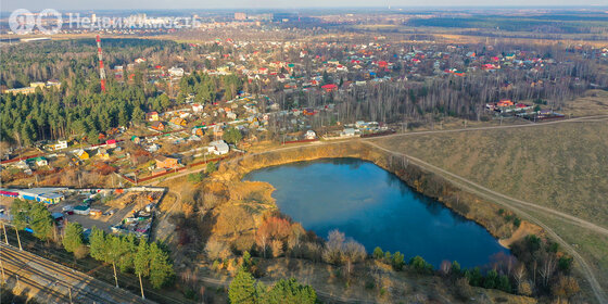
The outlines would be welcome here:
M 515 227 L 510 220 L 506 220 L 504 216 L 499 215 L 499 210 L 502 208 L 496 204 L 460 190 L 442 177 L 426 172 L 418 165 L 403 162 L 403 160 L 395 160 L 395 157 L 387 155 L 383 151 L 357 141 L 324 145 L 311 144 L 289 151 L 245 155 L 236 162 L 223 163 L 218 174 L 224 180 L 241 181 L 246 174 L 261 168 L 320 159 L 343 157 L 370 162 L 395 175 L 413 191 L 440 202 L 454 213 L 483 227 L 505 249 L 509 249 L 511 243 L 527 236 L 527 233 L 521 232 L 517 233 L 517 236 L 515 235 L 517 230 L 521 229 Z M 454 200 L 454 198 L 456 199 Z M 276 205 L 274 198 L 273 203 Z M 527 230 L 542 232 L 542 228 L 528 221 L 523 223 L 525 223 L 525 227 L 535 227 L 534 229 Z

